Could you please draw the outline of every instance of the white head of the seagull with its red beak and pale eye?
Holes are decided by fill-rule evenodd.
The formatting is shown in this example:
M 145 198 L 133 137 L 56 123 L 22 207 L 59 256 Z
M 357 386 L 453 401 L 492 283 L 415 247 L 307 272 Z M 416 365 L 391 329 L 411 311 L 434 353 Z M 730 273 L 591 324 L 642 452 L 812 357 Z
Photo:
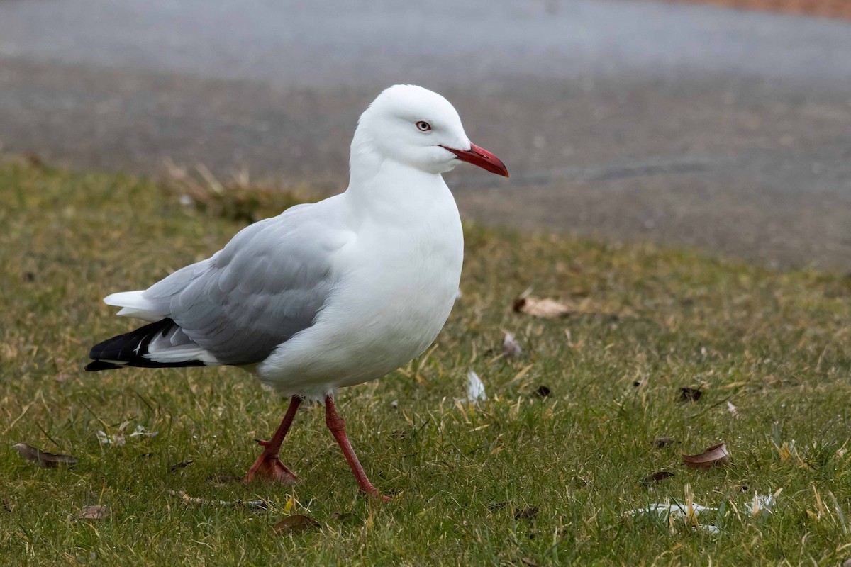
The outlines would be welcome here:
M 459 161 L 470 162 L 508 177 L 498 157 L 467 139 L 447 99 L 415 85 L 386 88 L 363 112 L 351 142 L 352 167 L 363 154 L 427 173 L 445 173 Z

